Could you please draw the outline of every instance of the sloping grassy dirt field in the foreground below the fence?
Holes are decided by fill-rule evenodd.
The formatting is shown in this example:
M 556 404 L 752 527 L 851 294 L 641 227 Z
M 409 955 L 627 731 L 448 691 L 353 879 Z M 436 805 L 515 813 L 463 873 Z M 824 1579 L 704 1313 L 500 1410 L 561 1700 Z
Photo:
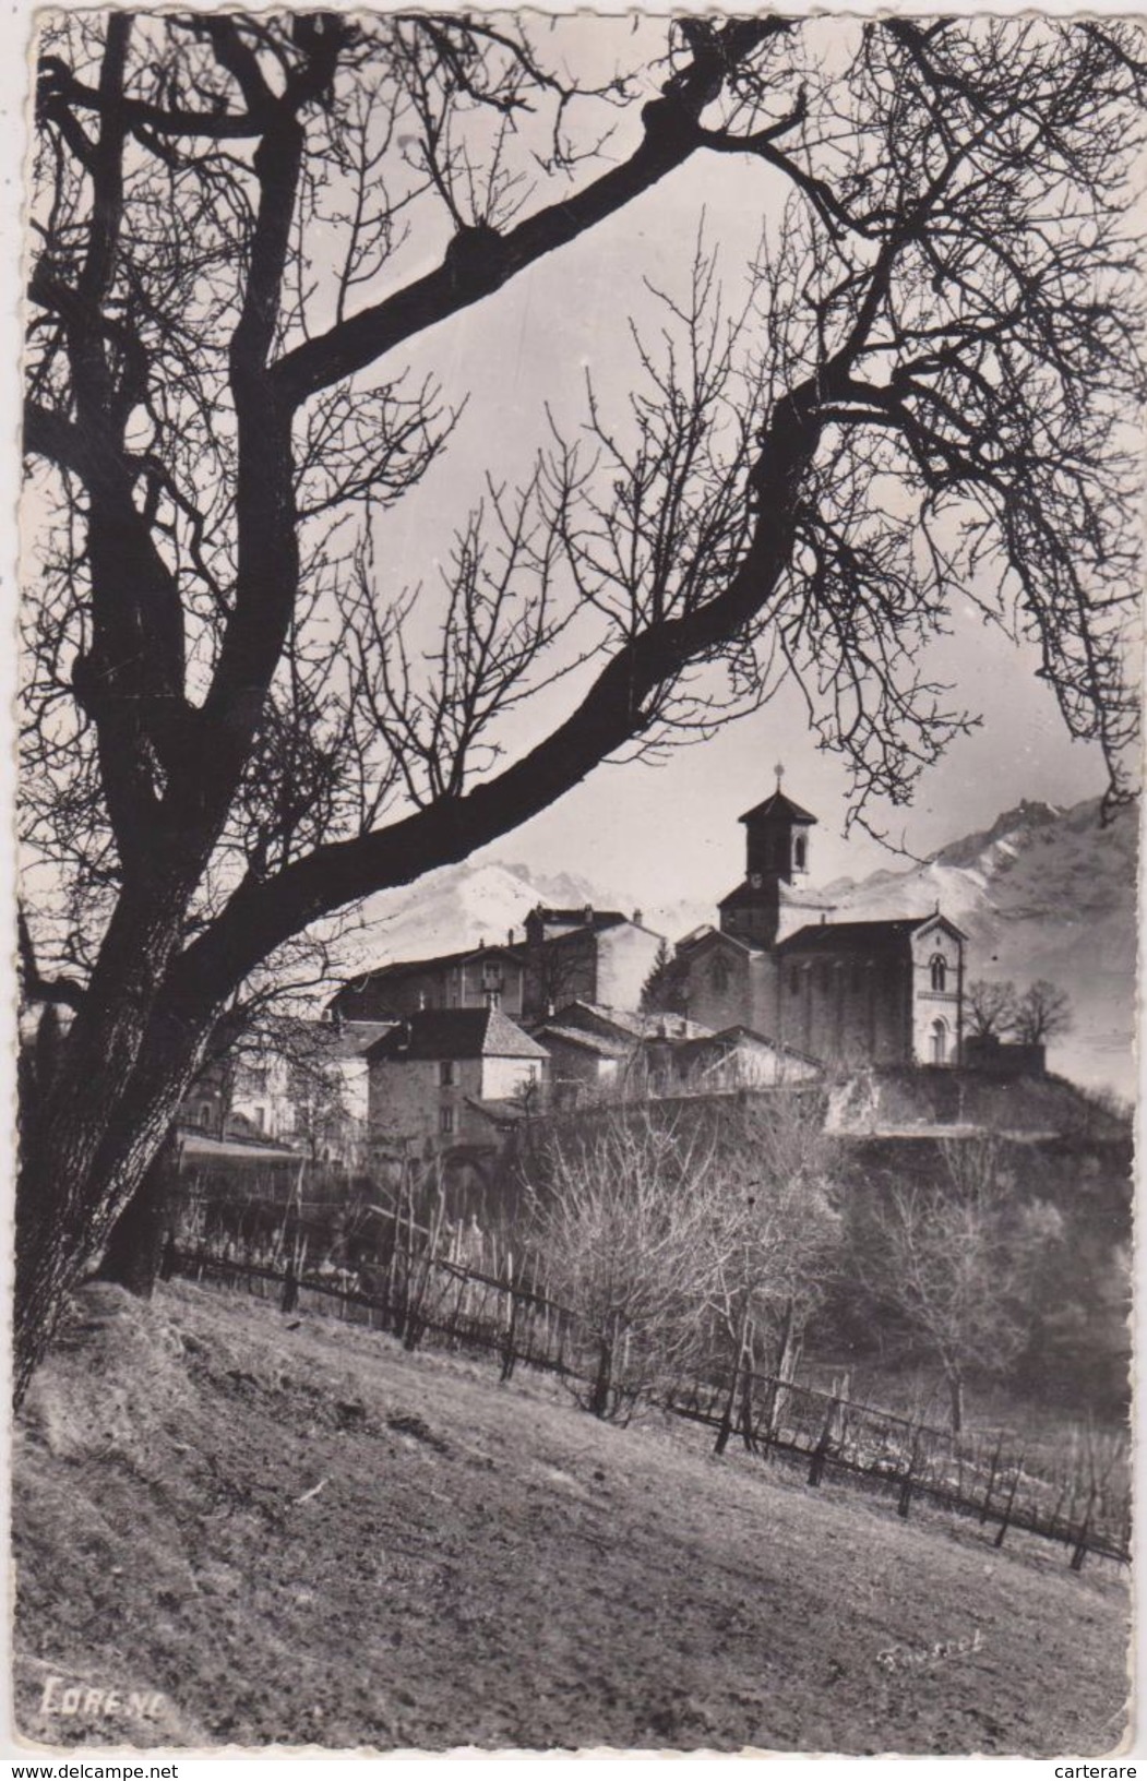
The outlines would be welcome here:
M 187 1284 L 80 1293 L 14 1539 L 50 1745 L 1099 1754 L 1126 1722 L 1111 1565 Z

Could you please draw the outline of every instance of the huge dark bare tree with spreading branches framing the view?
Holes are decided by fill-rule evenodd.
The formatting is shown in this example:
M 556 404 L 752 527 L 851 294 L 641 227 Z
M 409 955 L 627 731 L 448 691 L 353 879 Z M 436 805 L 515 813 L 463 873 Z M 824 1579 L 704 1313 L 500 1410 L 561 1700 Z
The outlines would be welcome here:
M 858 803 L 903 800 L 969 721 L 919 668 L 958 591 L 1126 791 L 1138 27 L 696 18 L 597 82 L 579 30 L 547 64 L 495 16 L 43 23 L 23 816 L 77 1013 L 25 1126 L 18 1395 L 251 972 L 606 757 L 796 675 Z M 404 353 L 728 155 L 775 217 L 744 299 L 698 249 L 629 413 L 590 392 L 395 588 L 385 511 L 458 415 Z

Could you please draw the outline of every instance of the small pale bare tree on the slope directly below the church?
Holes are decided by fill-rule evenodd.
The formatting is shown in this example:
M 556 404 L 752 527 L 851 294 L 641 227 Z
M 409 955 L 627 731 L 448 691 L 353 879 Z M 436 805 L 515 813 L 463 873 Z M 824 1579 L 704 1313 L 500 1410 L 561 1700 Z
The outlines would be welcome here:
M 944 1165 L 935 1186 L 892 1183 L 869 1286 L 939 1362 L 960 1434 L 969 1371 L 1006 1371 L 1028 1341 L 1033 1281 L 1062 1220 L 1017 1202 L 992 1138 L 953 1140 Z

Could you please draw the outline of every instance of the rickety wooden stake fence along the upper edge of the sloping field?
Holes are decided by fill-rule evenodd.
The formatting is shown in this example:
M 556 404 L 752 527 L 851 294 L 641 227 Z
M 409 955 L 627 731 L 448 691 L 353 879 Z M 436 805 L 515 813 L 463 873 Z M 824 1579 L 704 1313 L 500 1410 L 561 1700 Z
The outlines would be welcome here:
M 577 1316 L 536 1286 L 515 1284 L 463 1266 L 422 1257 L 406 1273 L 395 1270 L 296 1273 L 205 1247 L 167 1245 L 164 1277 L 180 1273 L 273 1300 L 281 1311 L 331 1313 L 399 1336 L 408 1348 L 431 1339 L 451 1348 L 488 1352 L 500 1377 L 515 1366 L 540 1368 L 586 1387 L 593 1396 L 597 1354 Z M 360 1284 L 351 1284 L 358 1281 Z M 896 1496 L 898 1514 L 915 1500 L 996 1526 L 996 1546 L 1015 1528 L 1056 1541 L 1081 1569 L 1088 1553 L 1127 1564 L 1131 1555 L 1131 1485 L 1122 1446 L 1085 1443 L 1053 1475 L 1028 1469 L 1024 1453 L 1005 1452 L 1001 1437 L 953 1435 L 871 1403 L 816 1391 L 791 1378 L 739 1371 L 689 1386 L 643 1393 L 647 1402 L 687 1421 L 714 1428 L 718 1452 L 730 1437 L 762 1460 L 807 1464 L 807 1480 L 851 1478 Z

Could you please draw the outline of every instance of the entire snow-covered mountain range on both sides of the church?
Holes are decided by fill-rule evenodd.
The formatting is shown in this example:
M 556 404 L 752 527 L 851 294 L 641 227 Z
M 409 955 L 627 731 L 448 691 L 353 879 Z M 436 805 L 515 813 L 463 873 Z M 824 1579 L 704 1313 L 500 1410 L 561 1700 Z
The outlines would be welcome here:
M 1049 978 L 1067 990 L 1074 1026 L 1051 1067 L 1074 1081 L 1135 1092 L 1135 951 L 1138 812 L 1099 823 L 1099 801 L 1058 810 L 1021 803 L 988 830 L 933 860 L 826 885 L 837 919 L 876 921 L 940 910 L 969 937 L 971 978 Z M 634 898 L 575 873 L 543 876 L 511 862 L 447 866 L 410 890 L 372 898 L 340 947 L 347 974 L 395 958 L 522 939 L 534 903 L 634 912 Z M 641 921 L 680 939 L 716 910 L 680 901 Z

